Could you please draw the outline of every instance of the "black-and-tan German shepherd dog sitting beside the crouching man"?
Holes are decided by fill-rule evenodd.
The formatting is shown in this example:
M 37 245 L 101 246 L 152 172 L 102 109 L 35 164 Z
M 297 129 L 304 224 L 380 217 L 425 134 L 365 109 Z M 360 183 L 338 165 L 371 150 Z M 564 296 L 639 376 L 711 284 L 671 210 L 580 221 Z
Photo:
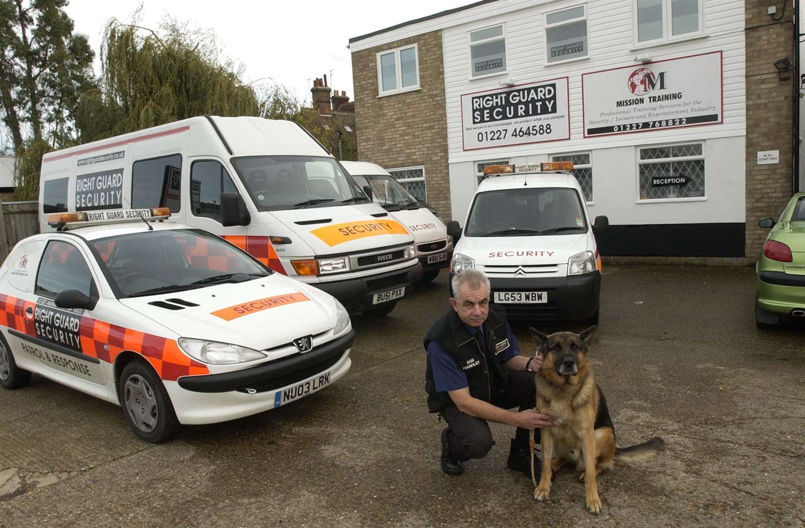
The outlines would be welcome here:
M 609 418 L 604 393 L 597 386 L 587 354 L 595 336 L 592 326 L 580 334 L 556 332 L 547 336 L 530 328 L 537 354 L 544 357 L 535 376 L 537 409 L 553 418 L 553 427 L 541 432 L 543 469 L 537 485 L 534 475 L 534 431 L 530 434 L 531 481 L 534 498 L 547 499 L 551 493 L 551 472 L 565 463 L 576 464 L 584 482 L 587 509 L 601 513 L 596 477 L 612 469 L 615 460 L 645 460 L 663 448 L 663 439 L 652 438 L 630 448 L 615 447 L 615 427 Z

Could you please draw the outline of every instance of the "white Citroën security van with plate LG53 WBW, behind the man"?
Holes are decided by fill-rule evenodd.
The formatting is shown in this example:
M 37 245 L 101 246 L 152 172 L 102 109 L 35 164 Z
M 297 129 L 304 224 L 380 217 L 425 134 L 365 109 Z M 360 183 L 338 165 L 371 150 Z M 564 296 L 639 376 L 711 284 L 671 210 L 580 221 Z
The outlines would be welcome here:
M 572 163 L 485 167 L 464 229 L 448 223 L 456 239 L 451 276 L 482 270 L 492 300 L 521 320 L 598 321 L 601 256 Z M 562 172 L 564 171 L 564 172 Z

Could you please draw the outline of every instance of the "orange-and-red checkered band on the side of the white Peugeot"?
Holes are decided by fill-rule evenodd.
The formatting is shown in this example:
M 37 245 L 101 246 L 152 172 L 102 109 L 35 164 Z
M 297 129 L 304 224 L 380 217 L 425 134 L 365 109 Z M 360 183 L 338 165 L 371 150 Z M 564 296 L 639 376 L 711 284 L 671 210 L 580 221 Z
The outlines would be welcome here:
M 34 318 L 24 316 L 28 306 L 33 309 L 36 303 L 0 295 L 0 325 L 36 337 Z M 195 361 L 182 353 L 175 340 L 123 328 L 91 317 L 81 316 L 81 353 L 96 357 L 106 363 L 114 363 L 119 353 L 130 350 L 145 357 L 154 367 L 159 377 L 175 382 L 182 376 L 208 374 L 204 363 Z M 105 347 L 108 346 L 109 350 Z

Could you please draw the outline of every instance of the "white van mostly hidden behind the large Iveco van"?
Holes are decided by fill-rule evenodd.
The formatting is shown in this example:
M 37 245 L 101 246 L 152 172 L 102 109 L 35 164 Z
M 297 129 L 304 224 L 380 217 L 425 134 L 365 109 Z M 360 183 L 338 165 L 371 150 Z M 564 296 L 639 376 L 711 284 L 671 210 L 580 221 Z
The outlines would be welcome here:
M 401 221 L 416 241 L 422 264 L 422 279 L 430 282 L 448 267 L 452 258 L 452 237 L 444 222 L 428 204 L 417 200 L 383 167 L 363 161 L 342 161 L 341 165 L 361 187 L 368 186 L 372 199 Z

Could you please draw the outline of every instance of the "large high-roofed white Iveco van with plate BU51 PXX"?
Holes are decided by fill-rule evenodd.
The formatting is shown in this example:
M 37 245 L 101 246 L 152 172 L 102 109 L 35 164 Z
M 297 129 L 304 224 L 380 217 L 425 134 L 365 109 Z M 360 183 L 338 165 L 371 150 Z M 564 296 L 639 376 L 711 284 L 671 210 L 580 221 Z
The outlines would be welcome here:
M 294 122 L 200 116 L 42 159 L 43 233 L 53 212 L 155 207 L 350 311 L 385 315 L 422 275 L 406 227 Z

